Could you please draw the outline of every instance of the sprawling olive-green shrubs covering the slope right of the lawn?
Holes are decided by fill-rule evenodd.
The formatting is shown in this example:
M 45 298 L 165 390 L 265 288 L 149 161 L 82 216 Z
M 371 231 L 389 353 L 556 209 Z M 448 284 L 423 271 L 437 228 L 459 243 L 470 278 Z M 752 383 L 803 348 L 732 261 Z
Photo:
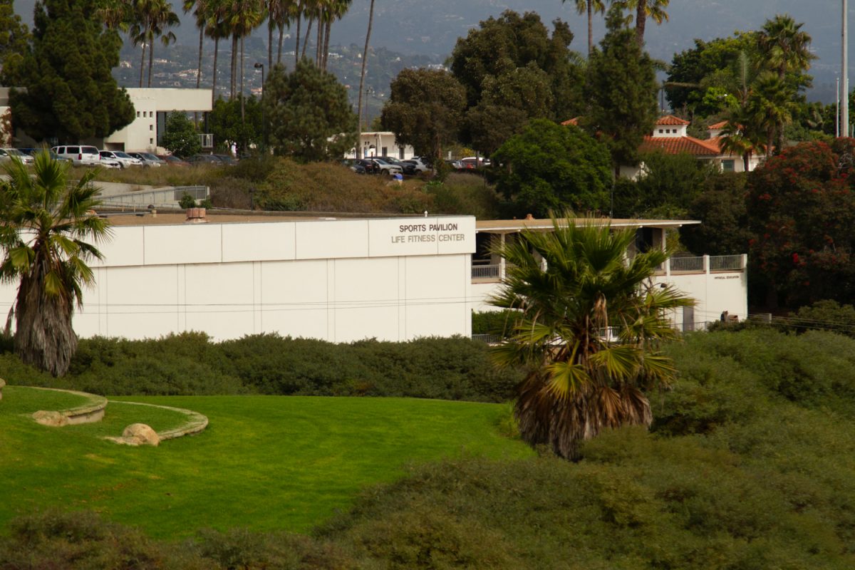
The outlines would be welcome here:
M 575 463 L 545 453 L 411 467 L 292 555 L 364 568 L 855 567 L 855 339 L 758 328 L 668 350 L 680 373 L 651 395 L 650 432 L 605 432 Z M 235 537 L 228 551 L 244 567 L 291 544 Z

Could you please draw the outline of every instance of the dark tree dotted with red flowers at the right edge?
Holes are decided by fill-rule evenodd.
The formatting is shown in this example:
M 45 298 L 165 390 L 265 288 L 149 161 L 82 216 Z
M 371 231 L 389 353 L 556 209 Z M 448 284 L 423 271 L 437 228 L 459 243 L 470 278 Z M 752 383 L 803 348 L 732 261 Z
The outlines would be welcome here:
M 775 308 L 855 293 L 855 139 L 799 144 L 748 179 L 755 300 Z M 764 297 L 759 297 L 759 294 Z

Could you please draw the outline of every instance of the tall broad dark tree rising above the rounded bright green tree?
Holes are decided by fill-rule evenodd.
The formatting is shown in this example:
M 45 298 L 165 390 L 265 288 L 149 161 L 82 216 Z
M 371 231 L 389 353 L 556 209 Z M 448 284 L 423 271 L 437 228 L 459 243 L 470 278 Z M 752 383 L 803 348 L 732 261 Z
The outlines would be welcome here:
M 514 132 L 530 118 L 567 120 L 579 115 L 583 109 L 581 58 L 569 50 L 573 41 L 569 26 L 560 20 L 552 26 L 550 34 L 534 12 L 521 16 L 508 10 L 498 18 L 481 21 L 478 29 L 457 40 L 451 73 L 466 88 L 471 114 L 462 132 L 464 143 L 474 143 L 472 133 L 489 132 L 495 125 L 495 113 L 510 112 Z M 543 75 L 534 76 L 533 70 Z M 520 78 L 534 79 L 534 84 L 524 85 Z M 544 79 L 549 95 L 541 85 Z M 529 107 L 530 103 L 536 104 Z M 495 148 L 495 138 L 491 140 Z

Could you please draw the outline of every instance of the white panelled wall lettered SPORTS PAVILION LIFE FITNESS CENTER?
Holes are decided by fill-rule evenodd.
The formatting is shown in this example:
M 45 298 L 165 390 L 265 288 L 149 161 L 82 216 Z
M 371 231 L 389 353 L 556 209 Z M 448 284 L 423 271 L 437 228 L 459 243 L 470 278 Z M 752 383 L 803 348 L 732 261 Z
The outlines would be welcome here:
M 278 332 L 347 342 L 469 335 L 475 218 L 121 226 L 81 337 Z M 0 289 L 9 311 L 15 287 Z

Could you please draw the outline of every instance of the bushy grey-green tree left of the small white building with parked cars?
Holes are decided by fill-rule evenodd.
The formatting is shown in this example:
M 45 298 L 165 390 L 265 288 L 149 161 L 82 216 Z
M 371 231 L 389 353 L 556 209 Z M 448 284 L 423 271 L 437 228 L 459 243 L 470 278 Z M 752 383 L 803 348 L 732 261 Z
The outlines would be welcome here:
M 342 156 L 357 142 L 357 116 L 347 90 L 332 73 L 300 61 L 292 73 L 277 65 L 268 76 L 263 103 L 268 137 L 278 156 L 322 161 Z

